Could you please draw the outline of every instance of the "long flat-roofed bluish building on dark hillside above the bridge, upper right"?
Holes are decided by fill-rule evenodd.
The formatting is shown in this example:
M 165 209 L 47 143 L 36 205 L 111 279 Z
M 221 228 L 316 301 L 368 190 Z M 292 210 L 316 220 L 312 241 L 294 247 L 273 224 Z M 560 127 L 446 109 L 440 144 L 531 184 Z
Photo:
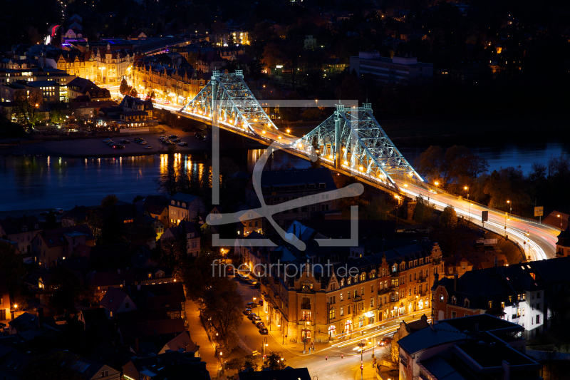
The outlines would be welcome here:
M 350 72 L 358 76 L 372 74 L 378 81 L 408 85 L 423 85 L 432 82 L 433 65 L 418 62 L 415 57 L 381 57 L 378 51 L 361 51 L 351 57 Z

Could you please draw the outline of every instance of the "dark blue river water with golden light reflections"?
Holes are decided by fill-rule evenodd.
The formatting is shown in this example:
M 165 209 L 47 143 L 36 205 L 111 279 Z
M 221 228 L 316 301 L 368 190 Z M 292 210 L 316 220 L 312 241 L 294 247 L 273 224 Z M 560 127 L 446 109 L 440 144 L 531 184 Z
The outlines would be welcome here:
M 521 165 L 527 173 L 533 162 L 547 163 L 551 155 L 570 154 L 563 143 L 541 145 L 505 145 L 502 147 L 471 147 L 489 160 L 490 170 Z M 425 148 L 403 148 L 402 154 L 413 164 Z M 252 173 L 261 150 L 232 152 L 232 160 L 240 170 Z M 222 154 L 223 155 L 223 154 Z M 108 194 L 132 202 L 136 195 L 157 192 L 155 178 L 165 170 L 167 155 L 130 158 L 58 158 L 0 157 L 0 211 L 34 210 L 74 205 L 98 205 Z M 175 155 L 198 175 L 207 175 L 211 163 L 203 155 Z M 287 166 L 306 168 L 306 160 L 276 152 L 273 168 Z

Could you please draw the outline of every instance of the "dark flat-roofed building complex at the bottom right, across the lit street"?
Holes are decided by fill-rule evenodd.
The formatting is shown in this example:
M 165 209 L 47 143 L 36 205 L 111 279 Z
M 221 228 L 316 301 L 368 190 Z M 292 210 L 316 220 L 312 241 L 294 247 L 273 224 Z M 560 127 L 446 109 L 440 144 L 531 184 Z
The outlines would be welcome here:
M 400 379 L 542 379 L 521 332 L 488 314 L 430 324 L 398 341 Z

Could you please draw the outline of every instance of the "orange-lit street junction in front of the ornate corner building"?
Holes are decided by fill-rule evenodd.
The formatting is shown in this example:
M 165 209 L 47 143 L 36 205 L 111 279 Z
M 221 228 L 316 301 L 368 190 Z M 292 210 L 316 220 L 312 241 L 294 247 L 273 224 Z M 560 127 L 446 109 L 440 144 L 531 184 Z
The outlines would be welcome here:
M 237 291 L 242 295 L 244 304 L 254 302 L 254 297 L 256 298 L 255 302 L 259 300 L 259 289 L 255 289 L 244 282 L 239 282 L 237 279 L 234 279 L 234 281 L 237 282 Z M 264 307 L 257 307 L 252 310 L 269 327 L 269 317 L 264 311 Z M 350 339 L 316 344 L 316 352 L 311 352 L 311 354 L 309 354 L 309 346 L 304 347 L 303 344 L 286 343 L 279 331 L 279 327 L 274 323 L 271 323 L 269 335 L 261 335 L 259 334 L 259 329 L 252 321 L 242 315 L 242 324 L 239 326 L 237 334 L 244 344 L 252 350 L 257 350 L 260 356 L 264 352 L 267 354 L 279 352 L 281 357 L 284 358 L 286 365 L 294 368 L 306 367 L 309 369 L 311 377 L 316 375 L 321 380 L 352 380 L 355 379 L 357 374 L 360 374 L 361 354 L 355 351 L 358 342 L 363 341 L 363 339 L 366 339 L 367 343 L 369 342 L 368 348 L 363 353 L 363 364 L 371 366 L 372 347 L 374 346 L 374 354 L 377 358 L 382 356 L 386 350 L 384 347 L 378 346 L 378 339 L 386 334 L 388 336 L 393 334 L 398 329 L 400 321 L 411 322 L 417 320 L 423 313 L 417 312 L 402 319 L 373 324 L 372 327 L 365 327 L 362 331 L 353 332 Z M 303 353 L 304 349 L 306 349 L 305 354 Z

